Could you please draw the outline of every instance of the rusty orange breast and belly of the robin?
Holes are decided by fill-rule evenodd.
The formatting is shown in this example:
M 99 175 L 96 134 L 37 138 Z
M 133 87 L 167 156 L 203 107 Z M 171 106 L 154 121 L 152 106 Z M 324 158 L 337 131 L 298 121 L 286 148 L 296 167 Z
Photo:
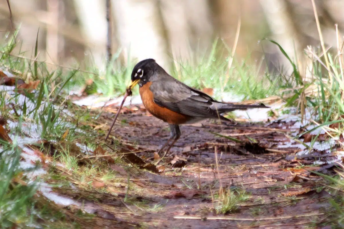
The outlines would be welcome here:
M 191 119 L 189 115 L 183 115 L 171 111 L 165 107 L 161 107 L 154 103 L 153 93 L 149 89 L 152 82 L 148 82 L 140 87 L 139 92 L 141 95 L 142 103 L 144 107 L 157 118 L 169 123 L 169 124 L 183 124 Z

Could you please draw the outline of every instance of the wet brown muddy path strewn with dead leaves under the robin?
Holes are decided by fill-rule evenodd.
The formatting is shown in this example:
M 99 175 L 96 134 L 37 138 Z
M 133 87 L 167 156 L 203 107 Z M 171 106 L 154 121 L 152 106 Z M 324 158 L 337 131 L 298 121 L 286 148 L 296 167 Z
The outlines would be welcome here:
M 105 112 L 101 119 L 110 125 L 113 116 Z M 126 108 L 112 130 L 113 139 L 136 152 L 123 154 L 141 168 L 130 174 L 144 190 L 135 198 L 160 207 L 158 212 L 134 207 L 140 213 L 135 210 L 125 220 L 157 228 L 316 227 L 326 217 L 330 194 L 319 188 L 319 176 L 300 167 L 323 169 L 313 165 L 313 156 L 296 157 L 300 148 L 287 137 L 293 123 L 206 120 L 183 125 L 181 138 L 161 158 L 154 152 L 170 137 L 168 125 L 142 106 Z M 245 192 L 237 209 L 216 212 L 221 190 L 229 189 L 236 195 Z

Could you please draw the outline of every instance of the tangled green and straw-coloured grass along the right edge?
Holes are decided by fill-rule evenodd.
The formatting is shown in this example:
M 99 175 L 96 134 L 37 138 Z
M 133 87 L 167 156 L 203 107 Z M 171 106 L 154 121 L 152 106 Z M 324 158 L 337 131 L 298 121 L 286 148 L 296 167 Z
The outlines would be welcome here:
M 322 39 L 322 36 L 320 38 Z M 324 47 L 319 50 L 308 47 L 305 51 L 308 66 L 303 66 L 303 68 L 294 63 L 278 43 L 272 41 L 280 48 L 293 67 L 292 76 L 288 80 L 289 88 L 293 93 L 286 99 L 287 105 L 298 108 L 298 114 L 303 118 L 305 126 L 315 125 L 314 128 L 297 135 L 295 140 L 316 129 L 324 130 L 330 139 L 342 137 L 344 130 L 344 58 L 343 44 L 340 42 L 338 33 L 336 39 L 337 47 L 333 48 L 332 52 L 326 52 Z M 324 44 L 323 41 L 322 44 Z M 307 116 L 307 112 L 311 115 Z M 315 134 L 310 146 L 307 146 L 309 152 L 319 135 L 320 132 Z M 343 147 L 340 141 L 337 144 L 341 148 Z M 328 215 L 322 222 L 322 225 L 333 228 L 344 226 L 344 168 L 340 163 L 338 165 L 340 167 L 335 169 L 337 173 L 335 176 L 310 171 L 324 178 L 326 181 L 324 185 L 333 196 L 328 200 L 333 208 L 328 210 Z

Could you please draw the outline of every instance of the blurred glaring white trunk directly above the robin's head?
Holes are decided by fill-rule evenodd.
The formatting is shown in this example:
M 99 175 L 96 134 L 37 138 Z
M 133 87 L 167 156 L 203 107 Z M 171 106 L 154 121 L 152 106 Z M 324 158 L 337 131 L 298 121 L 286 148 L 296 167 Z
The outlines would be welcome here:
M 168 68 L 168 46 L 158 2 L 155 0 L 114 0 L 112 9 L 124 58 L 138 61 L 153 58 Z

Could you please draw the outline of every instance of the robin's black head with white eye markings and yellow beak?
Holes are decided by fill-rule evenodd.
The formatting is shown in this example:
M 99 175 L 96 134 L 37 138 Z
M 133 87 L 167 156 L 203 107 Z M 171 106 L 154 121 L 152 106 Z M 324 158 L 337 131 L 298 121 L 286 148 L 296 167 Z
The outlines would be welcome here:
M 131 72 L 131 83 L 129 89 L 132 90 L 136 84 L 143 85 L 153 76 L 156 62 L 154 59 L 146 59 L 138 62 Z

